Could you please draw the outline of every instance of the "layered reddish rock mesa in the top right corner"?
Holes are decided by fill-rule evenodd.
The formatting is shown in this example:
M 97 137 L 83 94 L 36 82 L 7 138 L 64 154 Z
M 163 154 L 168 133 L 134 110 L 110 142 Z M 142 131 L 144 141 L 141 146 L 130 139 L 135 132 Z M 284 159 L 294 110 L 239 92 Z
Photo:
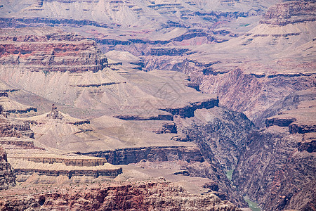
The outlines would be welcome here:
M 261 23 L 282 26 L 315 20 L 315 1 L 285 1 L 271 6 Z

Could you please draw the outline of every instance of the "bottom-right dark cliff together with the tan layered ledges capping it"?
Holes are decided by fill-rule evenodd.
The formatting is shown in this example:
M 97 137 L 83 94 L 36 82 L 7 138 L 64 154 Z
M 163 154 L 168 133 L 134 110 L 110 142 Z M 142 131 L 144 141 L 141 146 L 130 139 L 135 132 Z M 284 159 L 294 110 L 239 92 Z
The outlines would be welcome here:
M 249 135 L 233 184 L 264 210 L 315 210 L 315 101 L 266 123 Z

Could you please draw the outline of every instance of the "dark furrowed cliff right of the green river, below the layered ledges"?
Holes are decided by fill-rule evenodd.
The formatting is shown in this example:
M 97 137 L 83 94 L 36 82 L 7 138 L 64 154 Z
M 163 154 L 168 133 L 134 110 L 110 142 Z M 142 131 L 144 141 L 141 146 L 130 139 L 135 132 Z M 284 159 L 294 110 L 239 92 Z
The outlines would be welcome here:
M 232 175 L 238 190 L 264 210 L 314 210 L 316 160 L 301 140 L 277 126 L 251 134 Z

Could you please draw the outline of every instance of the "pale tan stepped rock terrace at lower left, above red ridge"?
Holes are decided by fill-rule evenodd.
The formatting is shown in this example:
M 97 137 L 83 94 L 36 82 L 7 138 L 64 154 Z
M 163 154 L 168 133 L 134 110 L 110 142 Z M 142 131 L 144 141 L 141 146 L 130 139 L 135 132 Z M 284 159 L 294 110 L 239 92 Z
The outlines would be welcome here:
M 34 147 L 32 139 L 1 138 L 1 146 L 8 154 L 8 160 L 16 175 L 29 176 L 36 173 L 46 176 L 107 176 L 117 177 L 121 167 L 114 167 L 105 158 L 82 155 L 56 155 L 44 148 Z

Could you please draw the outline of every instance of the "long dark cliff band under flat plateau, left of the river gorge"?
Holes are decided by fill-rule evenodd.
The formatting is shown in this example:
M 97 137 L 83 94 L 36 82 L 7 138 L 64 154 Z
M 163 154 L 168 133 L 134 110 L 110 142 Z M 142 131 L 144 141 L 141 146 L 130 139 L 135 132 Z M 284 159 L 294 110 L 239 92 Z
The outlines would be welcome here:
M 129 163 L 148 161 L 172 161 L 185 160 L 187 162 L 203 162 L 204 158 L 197 147 L 185 146 L 152 146 L 143 148 L 125 148 L 115 151 L 99 151 L 84 153 L 105 158 L 107 162 L 114 165 L 127 165 Z

